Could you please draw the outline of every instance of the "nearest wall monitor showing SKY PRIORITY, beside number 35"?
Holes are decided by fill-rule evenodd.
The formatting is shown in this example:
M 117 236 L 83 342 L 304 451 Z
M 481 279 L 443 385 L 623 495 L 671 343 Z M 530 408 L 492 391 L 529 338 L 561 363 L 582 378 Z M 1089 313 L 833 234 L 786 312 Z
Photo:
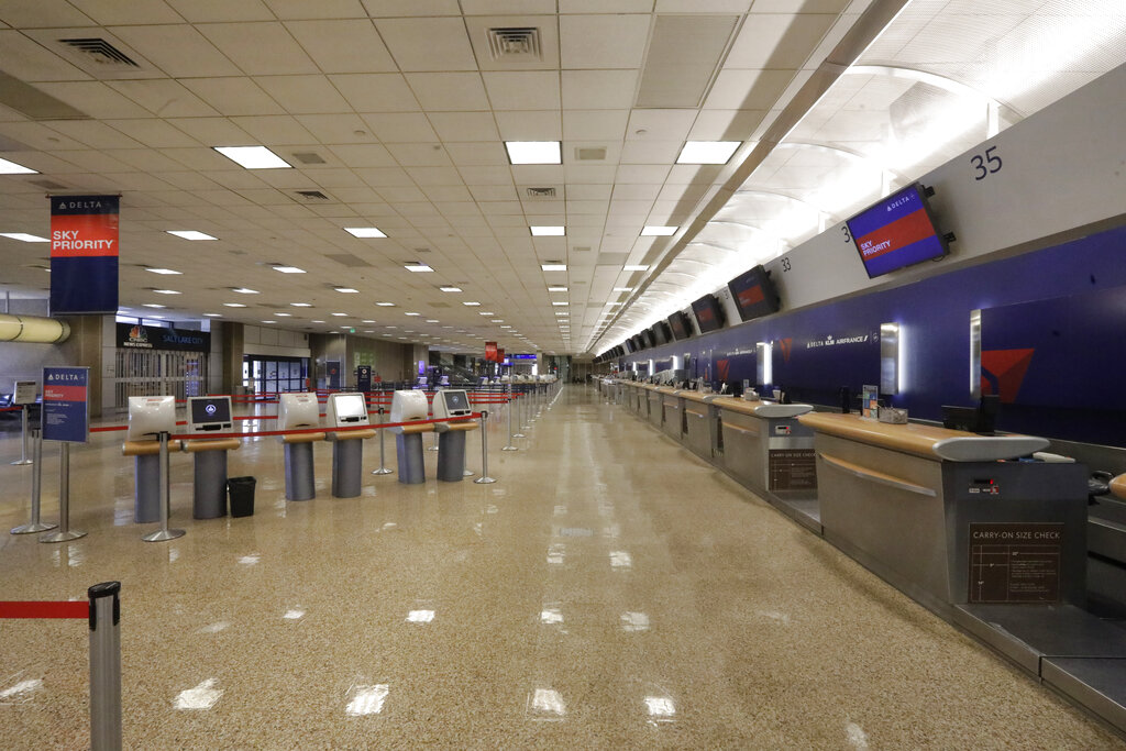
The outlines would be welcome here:
M 918 182 L 866 208 L 846 225 L 869 279 L 949 252 Z

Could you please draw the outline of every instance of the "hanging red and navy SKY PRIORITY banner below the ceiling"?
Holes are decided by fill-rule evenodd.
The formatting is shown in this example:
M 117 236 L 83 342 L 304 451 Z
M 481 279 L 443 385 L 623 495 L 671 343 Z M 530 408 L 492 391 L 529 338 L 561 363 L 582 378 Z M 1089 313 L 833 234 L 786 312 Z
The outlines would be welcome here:
M 118 196 L 51 196 L 51 315 L 117 312 Z

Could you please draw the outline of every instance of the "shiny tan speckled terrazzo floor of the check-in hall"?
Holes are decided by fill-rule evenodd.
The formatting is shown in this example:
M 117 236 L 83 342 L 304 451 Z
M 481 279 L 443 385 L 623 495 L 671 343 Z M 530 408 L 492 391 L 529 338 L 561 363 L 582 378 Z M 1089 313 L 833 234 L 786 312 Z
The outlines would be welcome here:
M 327 446 L 316 499 L 286 502 L 279 445 L 245 442 L 242 519 L 191 520 L 175 456 L 187 535 L 159 544 L 119 437 L 96 438 L 72 455 L 89 535 L 5 534 L 0 599 L 122 581 L 126 748 L 1126 748 L 593 390 L 564 388 L 518 452 L 506 428 L 495 484 L 372 476 L 368 441 L 349 500 Z M 5 530 L 27 516 L 18 453 L 5 433 Z M 480 471 L 480 433 L 467 455 Z M 50 447 L 44 471 L 53 519 Z M 0 748 L 84 748 L 86 681 L 84 624 L 0 622 Z

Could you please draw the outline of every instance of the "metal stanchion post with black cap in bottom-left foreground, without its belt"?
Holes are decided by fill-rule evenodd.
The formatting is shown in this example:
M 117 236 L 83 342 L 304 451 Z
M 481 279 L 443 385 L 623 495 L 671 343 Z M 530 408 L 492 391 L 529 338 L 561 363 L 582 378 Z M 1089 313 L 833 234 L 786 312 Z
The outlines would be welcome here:
M 95 584 L 90 597 L 90 749 L 122 748 L 122 583 Z

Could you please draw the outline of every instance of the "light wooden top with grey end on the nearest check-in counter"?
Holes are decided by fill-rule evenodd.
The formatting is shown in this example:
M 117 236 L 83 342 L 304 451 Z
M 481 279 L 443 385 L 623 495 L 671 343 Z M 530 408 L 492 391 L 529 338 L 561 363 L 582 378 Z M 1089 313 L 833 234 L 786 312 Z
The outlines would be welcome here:
M 1046 438 L 1034 436 L 978 436 L 915 423 L 888 424 L 861 419 L 859 414 L 810 412 L 798 421 L 816 431 L 914 454 L 932 461 L 992 462 L 1026 456 L 1047 448 Z

